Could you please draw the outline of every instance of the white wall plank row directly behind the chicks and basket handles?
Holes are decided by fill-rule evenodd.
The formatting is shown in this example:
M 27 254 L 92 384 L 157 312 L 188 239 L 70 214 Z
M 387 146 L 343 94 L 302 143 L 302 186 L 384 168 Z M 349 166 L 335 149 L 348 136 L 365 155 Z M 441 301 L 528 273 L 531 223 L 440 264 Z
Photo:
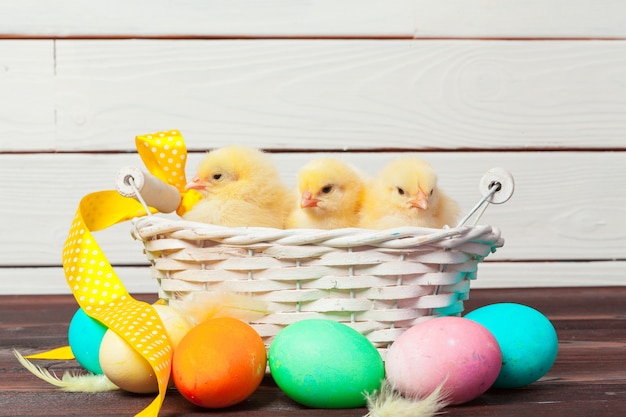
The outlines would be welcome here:
M 190 139 L 187 139 L 188 141 Z M 192 142 L 193 143 L 193 142 Z M 190 177 L 202 153 L 189 156 Z M 397 153 L 335 155 L 374 174 Z M 404 154 L 402 154 L 404 155 Z M 414 154 L 417 155 L 417 154 Z M 272 154 L 288 184 L 314 156 Z M 481 223 L 502 230 L 505 247 L 492 260 L 626 259 L 626 152 L 472 152 L 422 155 L 439 172 L 440 184 L 467 213 L 480 199 L 478 183 L 494 166 L 513 173 L 511 200 L 491 206 Z M 136 154 L 0 155 L 0 265 L 58 265 L 61 247 L 80 199 L 113 189 L 117 171 L 143 167 Z M 42 183 L 42 181 L 45 181 Z M 607 192 L 607 190 L 611 190 Z M 7 201 L 7 200 L 5 200 Z M 16 215 L 16 210 L 20 211 Z M 141 244 L 128 224 L 98 232 L 96 238 L 116 264 L 143 261 Z

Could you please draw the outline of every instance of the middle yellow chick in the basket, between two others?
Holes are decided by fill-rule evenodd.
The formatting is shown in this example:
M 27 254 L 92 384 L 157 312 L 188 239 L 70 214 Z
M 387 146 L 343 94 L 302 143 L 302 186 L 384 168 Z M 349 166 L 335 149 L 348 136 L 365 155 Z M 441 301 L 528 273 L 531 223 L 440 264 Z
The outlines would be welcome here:
M 297 202 L 287 228 L 336 229 L 358 224 L 364 182 L 359 172 L 335 158 L 317 158 L 298 172 Z

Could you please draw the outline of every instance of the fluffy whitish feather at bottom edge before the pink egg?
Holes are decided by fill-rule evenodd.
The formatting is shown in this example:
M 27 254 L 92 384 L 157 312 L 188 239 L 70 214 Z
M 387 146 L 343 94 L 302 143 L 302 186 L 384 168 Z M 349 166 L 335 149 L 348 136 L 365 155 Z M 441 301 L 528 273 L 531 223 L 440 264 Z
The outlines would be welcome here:
M 380 390 L 367 394 L 365 417 L 433 417 L 449 402 L 443 391 L 443 383 L 425 398 L 405 398 L 384 380 Z

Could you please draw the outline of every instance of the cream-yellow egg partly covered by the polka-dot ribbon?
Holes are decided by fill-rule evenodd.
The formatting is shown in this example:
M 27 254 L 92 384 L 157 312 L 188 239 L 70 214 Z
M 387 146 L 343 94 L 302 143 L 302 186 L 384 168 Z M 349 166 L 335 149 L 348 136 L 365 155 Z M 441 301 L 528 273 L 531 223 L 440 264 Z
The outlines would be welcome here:
M 153 307 L 175 349 L 191 330 L 191 323 L 171 307 L 160 304 Z M 114 331 L 108 330 L 104 335 L 99 358 L 103 373 L 121 389 L 138 394 L 159 390 L 156 375 L 148 361 Z

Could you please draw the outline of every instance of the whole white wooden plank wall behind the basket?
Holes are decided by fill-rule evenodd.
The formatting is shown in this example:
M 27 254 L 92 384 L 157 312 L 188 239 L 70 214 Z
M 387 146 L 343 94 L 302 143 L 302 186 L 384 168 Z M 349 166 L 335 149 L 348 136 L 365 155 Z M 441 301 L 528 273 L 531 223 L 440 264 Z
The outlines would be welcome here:
M 138 134 L 190 155 L 245 143 L 293 183 L 313 154 L 373 172 L 430 160 L 505 246 L 476 287 L 626 285 L 626 3 L 591 0 L 0 0 L 0 293 L 66 293 L 77 204 L 141 166 Z M 122 224 L 96 235 L 153 292 Z

